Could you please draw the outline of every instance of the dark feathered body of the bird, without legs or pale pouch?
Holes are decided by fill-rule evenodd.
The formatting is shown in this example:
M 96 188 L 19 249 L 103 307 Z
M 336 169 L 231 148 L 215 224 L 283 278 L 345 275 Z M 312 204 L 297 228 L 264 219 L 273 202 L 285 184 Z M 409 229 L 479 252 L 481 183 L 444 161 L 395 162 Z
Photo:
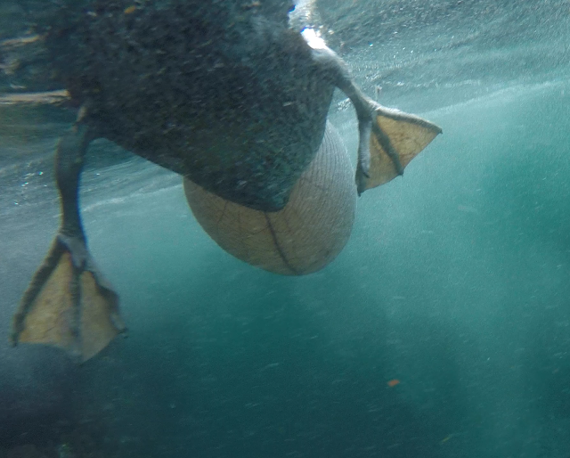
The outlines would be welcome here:
M 322 141 L 334 84 L 288 29 L 288 2 L 260 8 L 70 4 L 46 44 L 97 135 L 225 199 L 281 209 Z

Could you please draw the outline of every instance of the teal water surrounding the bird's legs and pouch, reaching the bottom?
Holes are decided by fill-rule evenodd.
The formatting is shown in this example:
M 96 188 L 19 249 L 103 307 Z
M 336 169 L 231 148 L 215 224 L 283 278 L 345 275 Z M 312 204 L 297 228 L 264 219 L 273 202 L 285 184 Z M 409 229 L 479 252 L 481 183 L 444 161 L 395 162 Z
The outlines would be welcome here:
M 367 93 L 444 135 L 303 277 L 232 258 L 179 176 L 96 142 L 85 231 L 129 331 L 83 365 L 8 344 L 73 114 L 0 107 L 1 458 L 570 456 L 570 4 L 379 4 L 397 38 L 370 37 L 375 4 L 354 2 L 366 29 L 313 7 L 345 13 L 332 43 Z M 330 120 L 355 156 L 346 106 Z

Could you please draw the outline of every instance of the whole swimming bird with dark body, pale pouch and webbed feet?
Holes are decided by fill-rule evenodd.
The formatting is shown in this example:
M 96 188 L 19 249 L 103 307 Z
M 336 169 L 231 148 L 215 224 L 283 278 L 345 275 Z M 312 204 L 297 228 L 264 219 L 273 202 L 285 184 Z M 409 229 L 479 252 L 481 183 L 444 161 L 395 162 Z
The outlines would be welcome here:
M 61 226 L 14 315 L 14 345 L 52 345 L 85 361 L 126 329 L 87 249 L 77 200 L 96 138 L 183 176 L 200 224 L 234 256 L 306 274 L 346 243 L 356 195 L 402 175 L 441 132 L 363 94 L 314 31 L 289 28 L 292 8 L 287 0 L 50 3 L 38 31 L 77 121 L 55 154 Z M 355 173 L 327 121 L 337 88 L 358 119 Z M 264 241 L 244 248 L 255 233 Z

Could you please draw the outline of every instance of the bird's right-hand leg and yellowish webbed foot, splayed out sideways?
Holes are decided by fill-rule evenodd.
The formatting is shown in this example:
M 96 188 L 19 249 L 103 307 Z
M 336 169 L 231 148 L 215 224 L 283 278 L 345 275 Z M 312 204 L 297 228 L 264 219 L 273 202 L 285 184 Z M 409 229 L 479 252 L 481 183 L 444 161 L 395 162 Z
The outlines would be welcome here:
M 346 63 L 323 44 L 311 41 L 314 61 L 318 62 L 354 105 L 358 118 L 359 143 L 356 166 L 358 194 L 385 184 L 396 176 L 442 129 L 426 119 L 374 102 L 354 84 Z

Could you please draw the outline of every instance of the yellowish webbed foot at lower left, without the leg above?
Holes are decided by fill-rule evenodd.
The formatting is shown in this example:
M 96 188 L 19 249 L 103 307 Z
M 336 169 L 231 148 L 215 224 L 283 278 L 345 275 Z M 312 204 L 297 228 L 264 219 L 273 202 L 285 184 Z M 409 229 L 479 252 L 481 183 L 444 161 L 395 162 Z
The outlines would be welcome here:
M 13 345 L 52 345 L 84 362 L 122 331 L 118 296 L 97 271 L 85 242 L 58 234 L 14 315 Z

